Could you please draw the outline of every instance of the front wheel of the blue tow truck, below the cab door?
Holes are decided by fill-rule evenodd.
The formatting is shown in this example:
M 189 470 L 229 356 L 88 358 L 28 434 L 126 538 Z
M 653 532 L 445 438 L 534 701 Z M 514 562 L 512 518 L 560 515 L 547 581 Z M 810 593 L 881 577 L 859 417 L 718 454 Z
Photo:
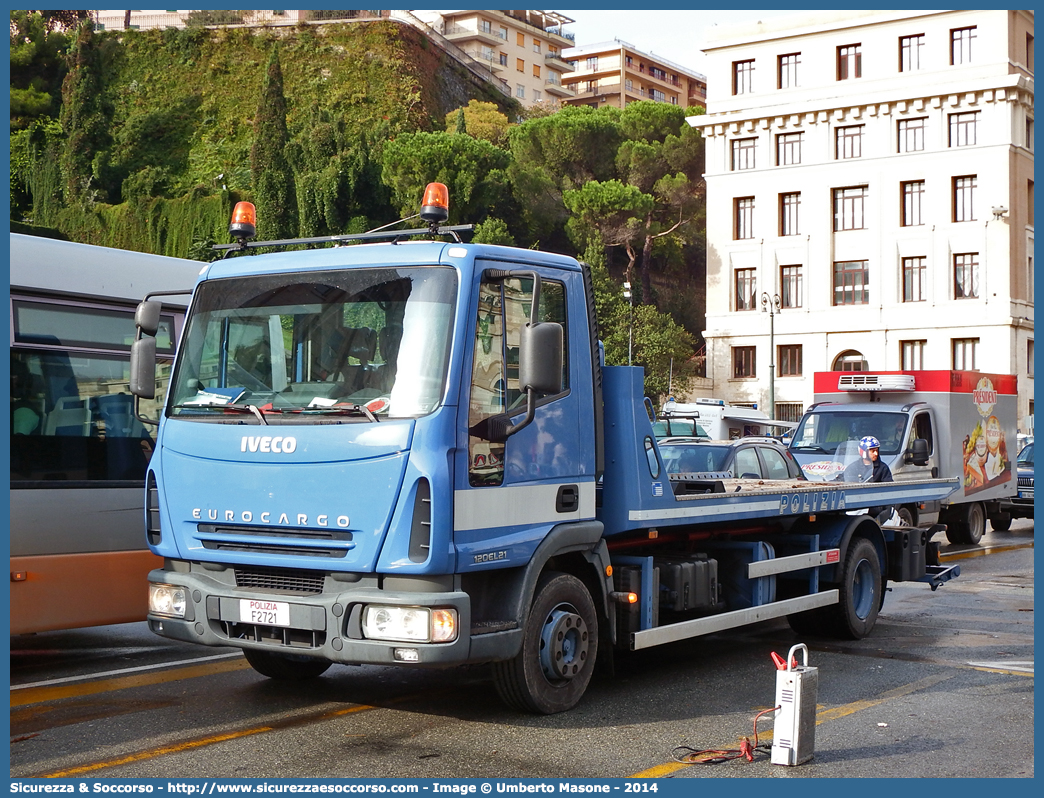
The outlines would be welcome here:
M 576 577 L 540 578 L 522 634 L 522 650 L 493 664 L 501 700 L 525 712 L 553 714 L 579 703 L 598 656 L 598 615 Z

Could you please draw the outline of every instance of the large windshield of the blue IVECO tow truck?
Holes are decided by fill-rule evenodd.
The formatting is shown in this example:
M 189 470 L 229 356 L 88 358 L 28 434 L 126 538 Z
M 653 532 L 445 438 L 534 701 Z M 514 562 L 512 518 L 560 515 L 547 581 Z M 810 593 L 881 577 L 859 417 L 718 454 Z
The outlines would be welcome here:
M 204 282 L 168 412 L 302 420 L 431 413 L 446 379 L 456 273 L 442 266 Z M 363 409 L 364 408 L 364 409 Z

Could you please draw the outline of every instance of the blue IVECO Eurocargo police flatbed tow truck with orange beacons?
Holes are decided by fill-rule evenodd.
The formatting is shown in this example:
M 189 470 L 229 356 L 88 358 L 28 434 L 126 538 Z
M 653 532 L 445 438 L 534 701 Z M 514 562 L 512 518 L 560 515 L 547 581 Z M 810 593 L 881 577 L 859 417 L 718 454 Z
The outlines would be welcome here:
M 221 245 L 252 257 L 195 285 L 149 463 L 157 634 L 277 679 L 490 662 L 509 706 L 552 713 L 614 652 L 784 616 L 860 638 L 888 581 L 959 572 L 943 527 L 858 513 L 956 478 L 668 475 L 641 369 L 603 363 L 587 266 L 461 243 L 444 186 L 419 230 L 256 242 L 252 214 Z

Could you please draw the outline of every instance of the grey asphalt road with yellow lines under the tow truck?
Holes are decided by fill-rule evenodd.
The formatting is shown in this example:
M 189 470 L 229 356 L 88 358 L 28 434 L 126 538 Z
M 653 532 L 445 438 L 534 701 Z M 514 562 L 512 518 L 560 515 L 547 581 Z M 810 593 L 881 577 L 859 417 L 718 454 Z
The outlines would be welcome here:
M 1021 547 L 1018 547 L 1021 546 Z M 11 638 L 13 777 L 1031 777 L 1031 522 L 945 546 L 962 576 L 897 584 L 865 640 L 802 640 L 818 668 L 815 755 L 718 765 L 775 701 L 785 623 L 639 652 L 563 714 L 523 715 L 489 668 L 335 666 L 278 683 L 238 652 L 143 624 Z M 770 742 L 773 721 L 758 724 Z

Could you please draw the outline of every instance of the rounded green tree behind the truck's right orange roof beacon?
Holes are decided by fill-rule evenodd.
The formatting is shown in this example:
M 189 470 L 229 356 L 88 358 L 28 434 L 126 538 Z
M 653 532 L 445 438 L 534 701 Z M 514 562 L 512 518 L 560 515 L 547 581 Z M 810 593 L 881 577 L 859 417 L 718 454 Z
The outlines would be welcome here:
M 503 208 L 508 156 L 488 141 L 451 133 L 406 133 L 384 146 L 381 171 L 400 214 L 418 212 L 424 187 L 445 183 L 449 224 L 477 222 Z

